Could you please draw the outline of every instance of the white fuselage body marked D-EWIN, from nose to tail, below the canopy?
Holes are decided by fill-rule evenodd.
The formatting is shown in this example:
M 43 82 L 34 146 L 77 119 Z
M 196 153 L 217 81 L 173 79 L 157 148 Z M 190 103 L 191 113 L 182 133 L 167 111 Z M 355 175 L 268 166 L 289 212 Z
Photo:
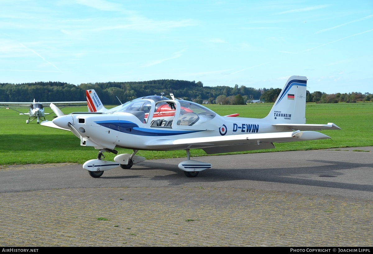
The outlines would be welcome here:
M 152 127 L 151 121 L 143 123 L 135 115 L 118 112 L 113 114 L 70 114 L 58 117 L 53 123 L 67 128 L 67 123 L 79 132 L 84 146 L 94 146 L 96 149 L 128 148 L 137 150 L 180 150 L 201 148 L 192 144 L 177 145 L 175 139 L 229 136 L 253 133 L 281 132 L 267 123 L 265 119 L 221 117 L 216 115 L 210 122 L 214 128 L 198 128 L 197 126 L 180 126 L 176 121 L 171 127 Z M 169 145 L 162 143 L 157 146 L 156 140 L 170 140 Z

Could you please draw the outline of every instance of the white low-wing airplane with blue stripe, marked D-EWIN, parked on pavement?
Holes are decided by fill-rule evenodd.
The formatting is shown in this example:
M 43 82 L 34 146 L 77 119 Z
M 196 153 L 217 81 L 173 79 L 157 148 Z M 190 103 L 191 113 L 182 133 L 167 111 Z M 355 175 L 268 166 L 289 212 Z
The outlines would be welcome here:
M 51 104 L 57 118 L 41 125 L 69 130 L 82 146 L 99 150 L 97 159 L 83 164 L 92 177 L 145 161 L 135 155 L 139 150 L 185 150 L 187 159 L 178 167 L 186 176 L 195 177 L 211 164 L 191 160 L 190 149 L 219 154 L 270 149 L 280 142 L 330 139 L 315 130 L 339 130 L 335 124 L 305 124 L 306 86 L 306 77 L 290 77 L 267 117 L 261 119 L 220 116 L 197 103 L 176 100 L 172 94 L 172 99 L 146 96 L 106 109 L 95 91 L 87 90 L 90 112 L 64 115 Z M 117 154 L 116 147 L 134 152 L 116 155 L 115 162 L 101 159 L 103 152 Z

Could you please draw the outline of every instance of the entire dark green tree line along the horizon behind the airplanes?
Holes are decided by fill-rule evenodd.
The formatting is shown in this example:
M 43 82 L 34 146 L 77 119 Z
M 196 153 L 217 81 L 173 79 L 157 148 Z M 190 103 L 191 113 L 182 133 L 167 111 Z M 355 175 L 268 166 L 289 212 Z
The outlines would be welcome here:
M 255 89 L 238 86 L 203 86 L 201 81 L 150 80 L 139 82 L 82 83 L 74 85 L 63 82 L 35 82 L 22 84 L 0 83 L 0 101 L 2 102 L 40 102 L 81 101 L 86 100 L 85 90 L 94 89 L 105 105 L 118 105 L 138 97 L 161 95 L 170 98 L 191 100 L 197 103 L 241 105 L 253 100 L 275 102 L 281 89 Z M 370 93 L 337 93 L 327 95 L 322 92 L 310 93 L 307 90 L 307 102 L 338 103 L 370 101 Z

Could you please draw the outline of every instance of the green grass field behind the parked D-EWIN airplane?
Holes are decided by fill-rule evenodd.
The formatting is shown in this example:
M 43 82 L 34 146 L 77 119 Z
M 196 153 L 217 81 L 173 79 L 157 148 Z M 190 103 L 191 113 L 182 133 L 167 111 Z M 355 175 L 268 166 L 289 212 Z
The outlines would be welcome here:
M 263 118 L 268 114 L 272 105 L 207 106 L 219 115 L 238 113 L 239 117 Z M 27 111 L 26 108 L 25 112 Z M 87 106 L 68 107 L 62 111 L 65 114 L 87 112 Z M 46 107 L 46 112 L 51 112 L 51 109 Z M 52 120 L 53 115 L 46 117 L 47 120 Z M 235 154 L 373 146 L 373 103 L 307 104 L 306 118 L 306 123 L 335 123 L 342 130 L 320 131 L 330 136 L 332 140 L 275 143 L 276 149 Z M 0 107 L 0 165 L 57 162 L 82 164 L 97 157 L 98 150 L 93 147 L 80 146 L 80 140 L 70 131 L 41 126 L 36 123 L 36 120 L 26 124 L 26 119 L 28 117 Z M 131 150 L 117 150 L 119 153 L 132 153 Z M 115 157 L 110 153 L 104 153 L 104 155 L 106 160 L 113 160 Z M 147 159 L 186 157 L 185 151 L 139 151 L 137 155 Z M 206 153 L 200 149 L 191 150 L 191 157 L 198 156 L 206 156 Z

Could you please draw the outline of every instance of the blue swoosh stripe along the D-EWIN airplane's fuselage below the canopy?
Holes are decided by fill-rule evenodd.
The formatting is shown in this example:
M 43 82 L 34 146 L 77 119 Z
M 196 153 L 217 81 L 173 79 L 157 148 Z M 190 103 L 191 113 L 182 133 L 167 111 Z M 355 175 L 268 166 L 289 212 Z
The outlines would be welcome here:
M 96 121 L 95 123 L 123 133 L 133 134 L 133 135 L 140 135 L 140 136 L 173 136 L 173 135 L 181 135 L 181 134 L 188 134 L 188 133 L 195 133 L 202 130 L 170 130 L 170 128 L 141 128 L 137 124 L 132 123 L 130 121 Z

